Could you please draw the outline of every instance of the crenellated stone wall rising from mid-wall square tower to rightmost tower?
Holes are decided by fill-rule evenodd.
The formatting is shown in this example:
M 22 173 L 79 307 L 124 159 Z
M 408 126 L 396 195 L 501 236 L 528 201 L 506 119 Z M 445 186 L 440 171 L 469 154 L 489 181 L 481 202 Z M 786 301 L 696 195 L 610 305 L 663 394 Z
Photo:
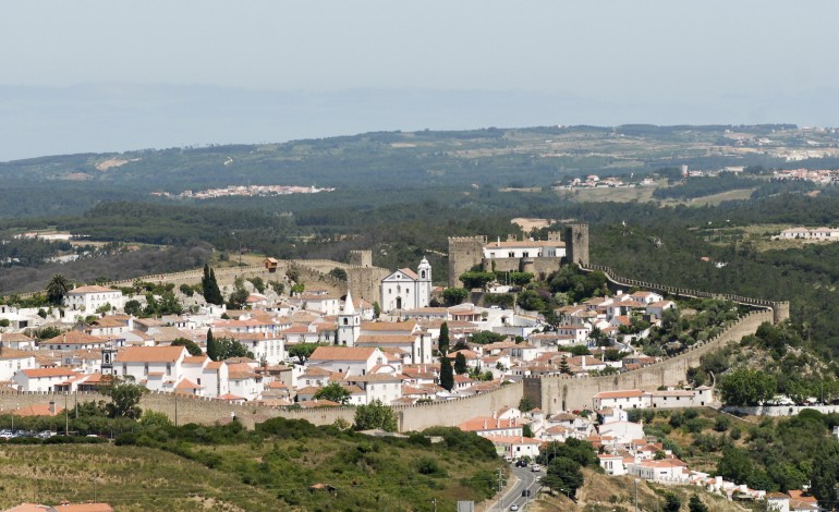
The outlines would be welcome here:
M 704 343 L 697 343 L 682 354 L 665 358 L 641 369 L 604 377 L 526 377 L 523 392 L 546 414 L 554 414 L 563 410 L 573 411 L 591 407 L 592 397 L 600 391 L 618 389 L 654 391 L 660 386 L 685 383 L 688 368 L 698 366 L 703 355 L 738 341 L 744 336 L 754 334 L 761 324 L 771 320 L 771 310 L 752 312 L 718 337 Z

